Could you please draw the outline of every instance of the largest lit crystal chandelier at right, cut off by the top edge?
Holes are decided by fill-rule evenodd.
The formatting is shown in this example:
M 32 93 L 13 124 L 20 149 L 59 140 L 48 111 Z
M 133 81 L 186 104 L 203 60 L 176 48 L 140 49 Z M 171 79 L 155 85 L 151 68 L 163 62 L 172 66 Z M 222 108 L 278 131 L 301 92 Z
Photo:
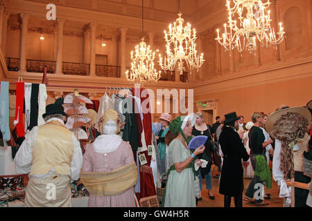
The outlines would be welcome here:
M 277 38 L 274 28 L 271 28 L 270 22 L 270 10 L 266 10 L 270 7 L 270 1 L 266 3 L 263 0 L 233 0 L 234 6 L 231 7 L 229 0 L 227 0 L 227 11 L 229 11 L 228 25 L 224 24 L 224 32 L 220 37 L 219 30 L 216 40 L 226 49 L 233 50 L 237 48 L 239 52 L 243 50 L 249 50 L 250 53 L 257 50 L 257 39 L 261 43 L 261 46 L 273 45 L 273 48 L 277 48 L 277 44 L 281 44 L 284 39 L 285 32 L 281 23 L 279 23 L 279 31 Z M 236 18 L 234 20 L 235 14 Z

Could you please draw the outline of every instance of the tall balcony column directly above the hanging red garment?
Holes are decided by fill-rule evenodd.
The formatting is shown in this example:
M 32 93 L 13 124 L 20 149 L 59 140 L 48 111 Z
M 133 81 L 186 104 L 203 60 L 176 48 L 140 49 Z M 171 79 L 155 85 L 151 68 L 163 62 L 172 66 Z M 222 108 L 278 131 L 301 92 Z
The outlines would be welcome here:
M 26 71 L 26 41 L 27 41 L 27 27 L 28 27 L 28 18 L 30 15 L 21 13 L 21 50 L 19 57 L 19 68 L 21 72 Z

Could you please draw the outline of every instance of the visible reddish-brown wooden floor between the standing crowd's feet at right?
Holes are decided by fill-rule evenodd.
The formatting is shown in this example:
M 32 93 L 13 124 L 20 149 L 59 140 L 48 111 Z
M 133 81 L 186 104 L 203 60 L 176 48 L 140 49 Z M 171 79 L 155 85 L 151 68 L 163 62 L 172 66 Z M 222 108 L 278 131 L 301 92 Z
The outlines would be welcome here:
M 215 175 L 215 174 L 214 174 Z M 210 200 L 208 197 L 208 192 L 206 189 L 205 179 L 202 180 L 202 200 L 198 201 L 198 207 L 223 207 L 224 206 L 224 195 L 219 193 L 219 179 L 212 177 L 212 193 L 214 193 L 215 199 Z M 244 191 L 248 189 L 250 179 L 244 178 Z M 243 201 L 243 207 L 283 207 L 284 198 L 279 198 L 279 191 L 277 183 L 272 180 L 272 189 L 265 189 L 266 193 L 270 193 L 270 200 L 265 200 L 268 202 L 267 206 L 255 206 L 249 202 Z M 231 206 L 234 206 L 234 198 L 232 198 Z

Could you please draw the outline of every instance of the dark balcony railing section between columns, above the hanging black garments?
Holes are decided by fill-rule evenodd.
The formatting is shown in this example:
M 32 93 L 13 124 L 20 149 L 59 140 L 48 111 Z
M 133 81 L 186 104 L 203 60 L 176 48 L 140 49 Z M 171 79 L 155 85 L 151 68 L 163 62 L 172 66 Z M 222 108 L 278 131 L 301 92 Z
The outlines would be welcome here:
M 46 66 L 46 73 L 53 74 L 55 73 L 55 64 L 55 61 L 27 59 L 26 70 L 27 72 L 44 73 L 44 66 Z

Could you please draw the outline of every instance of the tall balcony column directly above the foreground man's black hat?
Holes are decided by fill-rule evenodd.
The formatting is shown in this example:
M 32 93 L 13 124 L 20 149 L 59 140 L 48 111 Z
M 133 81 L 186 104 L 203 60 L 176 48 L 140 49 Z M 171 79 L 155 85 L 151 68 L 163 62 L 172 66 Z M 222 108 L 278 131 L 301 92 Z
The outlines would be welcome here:
M 58 49 L 56 51 L 56 69 L 55 74 L 62 74 L 62 62 L 63 62 L 63 29 L 64 29 L 64 19 L 58 19 Z

